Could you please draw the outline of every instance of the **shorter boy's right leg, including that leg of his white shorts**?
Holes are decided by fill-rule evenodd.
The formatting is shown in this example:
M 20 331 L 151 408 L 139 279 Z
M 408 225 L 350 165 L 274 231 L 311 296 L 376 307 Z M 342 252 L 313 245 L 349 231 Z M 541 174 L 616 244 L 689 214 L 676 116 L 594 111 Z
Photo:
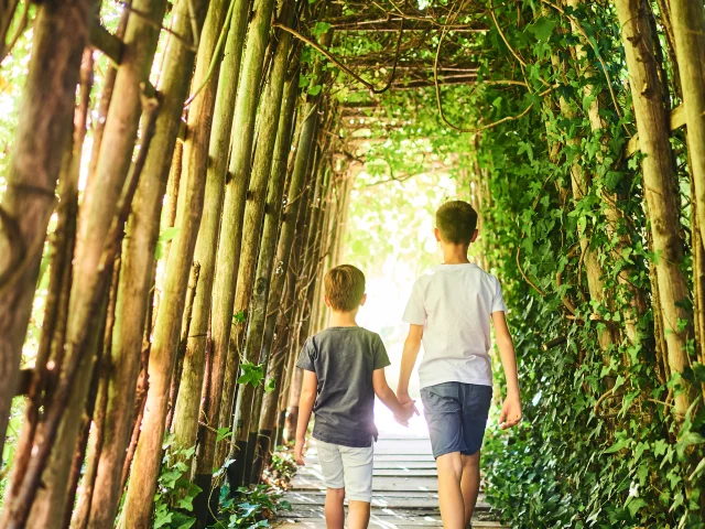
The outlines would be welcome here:
M 340 446 L 345 468 L 345 490 L 348 498 L 348 529 L 367 529 L 372 500 L 372 466 L 375 447 Z

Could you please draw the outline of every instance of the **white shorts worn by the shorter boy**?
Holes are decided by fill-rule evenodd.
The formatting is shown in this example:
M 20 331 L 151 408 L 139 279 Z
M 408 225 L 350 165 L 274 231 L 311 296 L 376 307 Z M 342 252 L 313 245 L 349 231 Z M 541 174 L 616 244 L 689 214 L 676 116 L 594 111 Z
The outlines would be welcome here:
M 316 440 L 323 479 L 328 488 L 345 488 L 354 501 L 372 500 L 372 457 L 375 446 L 352 449 Z

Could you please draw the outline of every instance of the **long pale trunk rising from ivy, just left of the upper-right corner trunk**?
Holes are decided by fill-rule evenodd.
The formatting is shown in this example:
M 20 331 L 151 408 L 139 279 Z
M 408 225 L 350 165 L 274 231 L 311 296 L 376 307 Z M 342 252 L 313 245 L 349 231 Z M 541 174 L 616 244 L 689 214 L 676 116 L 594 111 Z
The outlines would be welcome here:
M 629 69 L 629 80 L 644 159 L 643 187 L 651 225 L 660 310 L 666 356 L 672 373 L 682 374 L 688 367 L 686 343 L 693 332 L 693 316 L 683 307 L 688 298 L 687 283 L 681 271 L 683 241 L 679 238 L 679 193 L 673 153 L 669 138 L 669 110 L 663 105 L 663 90 L 654 62 L 654 35 L 649 24 L 643 0 L 616 0 L 622 25 L 622 41 Z M 691 402 L 691 388 L 683 379 L 685 391 L 675 397 L 676 415 L 683 418 Z

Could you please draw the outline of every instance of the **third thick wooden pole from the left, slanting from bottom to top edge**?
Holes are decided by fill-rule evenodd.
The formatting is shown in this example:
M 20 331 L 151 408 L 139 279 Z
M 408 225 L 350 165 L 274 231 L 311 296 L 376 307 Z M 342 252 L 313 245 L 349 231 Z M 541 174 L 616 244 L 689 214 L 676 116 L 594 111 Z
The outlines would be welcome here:
M 182 9 L 185 6 L 182 3 Z M 196 23 L 200 24 L 205 2 L 197 7 Z M 191 21 L 184 12 L 175 13 L 174 31 L 191 33 Z M 145 177 L 134 199 L 134 213 L 128 224 L 123 272 L 118 295 L 117 322 L 112 343 L 112 365 L 109 403 L 106 417 L 105 445 L 98 464 L 95 494 L 90 507 L 89 527 L 113 523 L 122 490 L 120 476 L 126 449 L 132 434 L 134 398 L 143 343 L 150 289 L 153 283 L 154 252 L 160 229 L 160 216 L 181 128 L 183 102 L 188 90 L 195 53 L 177 39 L 171 39 L 165 52 L 159 91 L 163 99 L 156 122 L 156 134 L 148 155 Z M 124 388 L 130 388 L 126 391 Z

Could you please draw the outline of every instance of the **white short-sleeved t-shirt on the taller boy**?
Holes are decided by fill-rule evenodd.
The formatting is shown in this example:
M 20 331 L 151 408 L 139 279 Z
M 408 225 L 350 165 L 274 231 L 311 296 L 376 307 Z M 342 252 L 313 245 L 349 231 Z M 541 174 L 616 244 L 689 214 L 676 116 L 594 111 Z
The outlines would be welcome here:
M 507 312 L 495 276 L 474 263 L 440 264 L 416 280 L 403 321 L 423 325 L 421 387 L 492 385 L 489 321 Z

